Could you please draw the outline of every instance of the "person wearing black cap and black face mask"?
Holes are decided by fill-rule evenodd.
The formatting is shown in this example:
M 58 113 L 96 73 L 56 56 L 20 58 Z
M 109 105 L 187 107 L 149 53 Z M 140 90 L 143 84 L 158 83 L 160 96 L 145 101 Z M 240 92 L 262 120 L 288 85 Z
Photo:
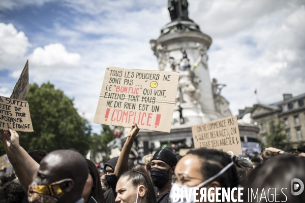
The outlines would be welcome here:
M 151 159 L 150 178 L 153 181 L 157 203 L 168 203 L 171 178 L 175 172 L 177 158 L 170 150 L 162 149 Z

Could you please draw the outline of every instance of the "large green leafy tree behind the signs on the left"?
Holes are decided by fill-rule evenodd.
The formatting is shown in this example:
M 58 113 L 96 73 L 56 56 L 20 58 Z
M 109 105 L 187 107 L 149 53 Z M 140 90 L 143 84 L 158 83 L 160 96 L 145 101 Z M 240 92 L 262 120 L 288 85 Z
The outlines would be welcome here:
M 91 127 L 77 113 L 73 100 L 51 83 L 29 86 L 26 96 L 34 132 L 19 132 L 26 150 L 75 149 L 85 155 L 90 147 Z M 1 147 L 1 150 L 4 147 Z

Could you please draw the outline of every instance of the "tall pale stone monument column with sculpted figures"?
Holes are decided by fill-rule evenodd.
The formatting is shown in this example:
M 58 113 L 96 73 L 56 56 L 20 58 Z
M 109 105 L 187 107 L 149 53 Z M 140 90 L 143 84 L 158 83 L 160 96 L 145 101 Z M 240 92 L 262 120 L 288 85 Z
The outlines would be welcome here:
M 157 40 L 150 41 L 159 69 L 180 72 L 175 110 L 182 109 L 184 120 L 179 118 L 178 112 L 174 112 L 173 127 L 195 125 L 221 117 L 215 110 L 207 65 L 206 51 L 212 40 L 189 19 L 187 6 L 186 0 L 169 0 L 172 22 L 162 28 Z

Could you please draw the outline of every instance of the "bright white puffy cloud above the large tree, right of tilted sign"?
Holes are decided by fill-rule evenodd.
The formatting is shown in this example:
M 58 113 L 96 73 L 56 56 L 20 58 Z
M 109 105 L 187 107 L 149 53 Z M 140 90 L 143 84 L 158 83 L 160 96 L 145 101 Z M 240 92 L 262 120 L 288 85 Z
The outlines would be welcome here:
M 55 64 L 78 65 L 80 55 L 78 53 L 69 53 L 62 44 L 50 44 L 44 48 L 38 47 L 34 50 L 29 59 L 35 65 L 51 66 Z

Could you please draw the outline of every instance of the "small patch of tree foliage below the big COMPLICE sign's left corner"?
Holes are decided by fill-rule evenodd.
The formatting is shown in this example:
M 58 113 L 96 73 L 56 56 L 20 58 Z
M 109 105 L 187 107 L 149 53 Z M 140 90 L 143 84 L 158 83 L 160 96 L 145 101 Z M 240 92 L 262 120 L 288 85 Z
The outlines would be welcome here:
M 109 152 L 107 144 L 115 138 L 114 130 L 115 128 L 111 129 L 109 125 L 102 125 L 101 134 L 93 134 L 92 146 L 90 146 L 92 157 L 95 157 L 98 153 Z

